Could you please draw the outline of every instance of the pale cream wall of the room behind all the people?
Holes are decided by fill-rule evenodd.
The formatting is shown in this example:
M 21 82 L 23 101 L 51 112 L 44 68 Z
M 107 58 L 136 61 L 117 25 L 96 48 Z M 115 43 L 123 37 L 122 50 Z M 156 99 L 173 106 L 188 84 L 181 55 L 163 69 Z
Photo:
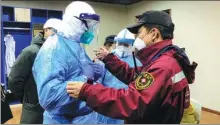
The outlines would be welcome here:
M 58 9 L 68 2 L 2 1 L 3 5 Z M 172 9 L 175 23 L 174 43 L 186 47 L 187 54 L 199 63 L 196 81 L 190 85 L 192 97 L 203 106 L 220 111 L 220 2 L 219 1 L 143 1 L 131 6 L 91 3 L 101 16 L 99 45 L 110 34 L 117 34 L 134 16 L 146 10 Z M 92 49 L 87 50 L 91 53 Z M 89 53 L 89 54 L 90 54 Z

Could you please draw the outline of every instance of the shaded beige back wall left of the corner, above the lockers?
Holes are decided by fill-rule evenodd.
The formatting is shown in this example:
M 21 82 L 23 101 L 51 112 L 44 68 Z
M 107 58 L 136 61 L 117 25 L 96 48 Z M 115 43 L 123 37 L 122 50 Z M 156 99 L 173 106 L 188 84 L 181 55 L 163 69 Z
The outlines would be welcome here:
M 65 10 L 65 7 L 71 1 L 2 1 L 2 5 L 24 7 L 24 8 L 40 8 L 52 10 Z M 122 5 L 102 4 L 89 2 L 95 9 L 96 13 L 100 15 L 101 22 L 99 25 L 98 45 L 104 43 L 105 37 L 110 34 L 117 34 L 122 28 L 127 26 L 127 8 Z M 93 49 L 97 48 L 97 44 L 92 44 L 90 47 L 86 46 L 86 50 L 90 57 L 94 57 Z

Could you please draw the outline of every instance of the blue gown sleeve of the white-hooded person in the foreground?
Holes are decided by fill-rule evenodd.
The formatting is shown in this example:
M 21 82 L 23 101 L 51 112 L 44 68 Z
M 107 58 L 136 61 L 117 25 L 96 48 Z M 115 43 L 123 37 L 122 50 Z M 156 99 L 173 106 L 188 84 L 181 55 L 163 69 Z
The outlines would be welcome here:
M 32 69 L 40 105 L 47 111 L 75 101 L 66 93 L 67 81 L 65 78 L 68 77 L 66 76 L 68 64 L 65 62 L 65 58 L 62 58 L 65 54 L 62 51 L 52 51 L 54 51 L 52 54 L 50 52 L 40 53 Z

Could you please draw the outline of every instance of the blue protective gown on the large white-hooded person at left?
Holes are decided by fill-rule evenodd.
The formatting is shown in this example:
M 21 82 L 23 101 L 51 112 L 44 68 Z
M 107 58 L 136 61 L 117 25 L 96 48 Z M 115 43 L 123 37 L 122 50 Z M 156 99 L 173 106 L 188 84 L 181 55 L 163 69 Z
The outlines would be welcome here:
M 87 82 L 93 75 L 89 63 L 92 61 L 80 43 L 58 34 L 46 40 L 32 68 L 39 102 L 45 109 L 44 124 L 97 123 L 97 113 L 66 91 L 68 81 Z M 83 73 L 85 67 L 91 71 L 88 76 Z

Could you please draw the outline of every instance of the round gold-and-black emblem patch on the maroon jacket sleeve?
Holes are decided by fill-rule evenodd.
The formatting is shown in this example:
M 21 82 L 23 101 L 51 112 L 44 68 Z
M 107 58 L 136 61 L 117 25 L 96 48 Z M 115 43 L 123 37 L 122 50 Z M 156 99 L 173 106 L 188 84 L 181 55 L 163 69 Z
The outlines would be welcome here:
M 135 87 L 137 90 L 148 88 L 154 81 L 154 77 L 148 72 L 142 72 L 135 80 Z

